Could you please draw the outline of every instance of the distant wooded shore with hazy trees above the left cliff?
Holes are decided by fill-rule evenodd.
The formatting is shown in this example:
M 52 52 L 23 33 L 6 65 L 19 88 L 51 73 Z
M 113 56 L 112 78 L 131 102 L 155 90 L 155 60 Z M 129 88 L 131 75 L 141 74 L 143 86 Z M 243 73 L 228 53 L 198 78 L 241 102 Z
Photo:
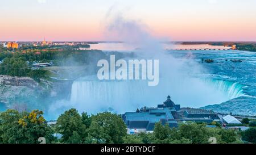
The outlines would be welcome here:
M 91 72 L 96 72 L 97 62 L 101 59 L 109 60 L 114 54 L 117 59 L 134 57 L 134 53 L 102 52 L 99 50 L 75 50 L 75 49 L 17 49 L 15 52 L 0 49 L 0 74 L 9 76 L 26 76 L 40 81 L 40 78 L 48 77 L 47 70 L 31 70 L 34 62 L 53 62 L 55 66 L 90 66 Z

